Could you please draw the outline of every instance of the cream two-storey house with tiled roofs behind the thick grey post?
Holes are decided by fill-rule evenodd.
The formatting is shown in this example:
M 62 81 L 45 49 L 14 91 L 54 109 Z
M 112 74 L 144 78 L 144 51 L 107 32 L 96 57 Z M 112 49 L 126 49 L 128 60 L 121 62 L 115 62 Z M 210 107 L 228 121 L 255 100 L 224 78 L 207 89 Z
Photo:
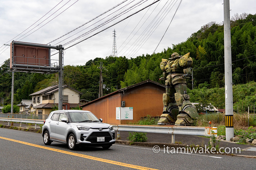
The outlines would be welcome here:
M 63 109 L 81 106 L 80 95 L 82 93 L 67 85 L 63 86 Z M 59 85 L 49 86 L 29 96 L 32 97 L 32 108 L 36 114 L 49 114 L 54 107 L 58 107 Z M 31 109 L 32 110 L 32 109 Z

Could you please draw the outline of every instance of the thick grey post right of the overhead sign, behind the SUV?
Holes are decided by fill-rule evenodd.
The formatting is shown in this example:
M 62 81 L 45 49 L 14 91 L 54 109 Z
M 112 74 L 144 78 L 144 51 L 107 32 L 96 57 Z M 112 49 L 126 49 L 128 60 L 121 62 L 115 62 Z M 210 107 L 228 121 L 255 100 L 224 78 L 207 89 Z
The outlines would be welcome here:
M 59 110 L 62 110 L 62 99 L 63 99 L 63 81 L 62 81 L 62 77 L 63 77 L 63 69 L 62 69 L 62 45 L 59 45 L 59 67 L 60 67 L 60 71 L 59 71 Z

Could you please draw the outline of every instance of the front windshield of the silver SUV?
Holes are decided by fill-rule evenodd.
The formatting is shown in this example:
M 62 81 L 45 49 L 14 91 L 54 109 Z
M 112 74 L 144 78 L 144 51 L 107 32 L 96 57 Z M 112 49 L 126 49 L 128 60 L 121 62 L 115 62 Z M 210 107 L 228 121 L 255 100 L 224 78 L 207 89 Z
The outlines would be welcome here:
M 72 122 L 99 121 L 99 119 L 91 112 L 69 112 Z

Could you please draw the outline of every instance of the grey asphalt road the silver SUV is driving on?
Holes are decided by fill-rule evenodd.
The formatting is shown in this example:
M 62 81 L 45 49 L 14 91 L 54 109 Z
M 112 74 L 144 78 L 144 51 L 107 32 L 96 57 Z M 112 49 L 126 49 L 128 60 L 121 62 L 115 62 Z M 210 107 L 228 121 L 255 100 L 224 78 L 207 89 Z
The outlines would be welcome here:
M 106 150 L 98 147 L 70 151 L 62 143 L 45 146 L 38 133 L 0 128 L 0 169 L 132 169 L 132 165 L 142 166 L 135 169 L 256 169 L 254 158 L 154 153 L 152 148 L 121 144 Z

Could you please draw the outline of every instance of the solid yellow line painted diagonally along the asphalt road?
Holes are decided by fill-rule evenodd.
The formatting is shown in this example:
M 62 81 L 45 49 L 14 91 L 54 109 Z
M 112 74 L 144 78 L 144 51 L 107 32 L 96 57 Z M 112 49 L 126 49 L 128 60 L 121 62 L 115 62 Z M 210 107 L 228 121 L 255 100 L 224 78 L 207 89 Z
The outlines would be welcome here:
M 1 136 L 0 136 L 0 138 L 5 139 L 5 140 L 10 140 L 13 142 L 22 143 L 22 144 L 29 145 L 29 146 L 34 146 L 37 148 L 42 148 L 42 149 L 47 149 L 47 150 L 51 150 L 51 151 L 55 151 L 55 152 L 79 156 L 82 158 L 91 159 L 91 160 L 100 161 L 100 162 L 106 162 L 106 163 L 115 164 L 115 165 L 119 165 L 119 166 L 125 166 L 125 167 L 130 167 L 130 168 L 134 168 L 134 169 L 142 169 L 142 170 L 157 170 L 157 169 L 153 169 L 153 168 L 147 168 L 147 167 L 138 166 L 138 165 L 126 164 L 123 162 L 111 161 L 111 160 L 97 158 L 97 157 L 93 157 L 93 156 L 89 156 L 89 155 L 83 155 L 83 154 L 79 154 L 79 153 L 73 153 L 73 152 L 63 151 L 63 150 L 59 150 L 59 149 L 49 148 L 49 147 L 40 146 L 40 145 L 36 145 L 33 143 L 28 143 L 28 142 L 23 142 L 23 141 L 19 141 L 19 140 L 15 140 L 15 139 L 9 139 L 9 138 L 5 138 L 5 137 L 1 137 Z

